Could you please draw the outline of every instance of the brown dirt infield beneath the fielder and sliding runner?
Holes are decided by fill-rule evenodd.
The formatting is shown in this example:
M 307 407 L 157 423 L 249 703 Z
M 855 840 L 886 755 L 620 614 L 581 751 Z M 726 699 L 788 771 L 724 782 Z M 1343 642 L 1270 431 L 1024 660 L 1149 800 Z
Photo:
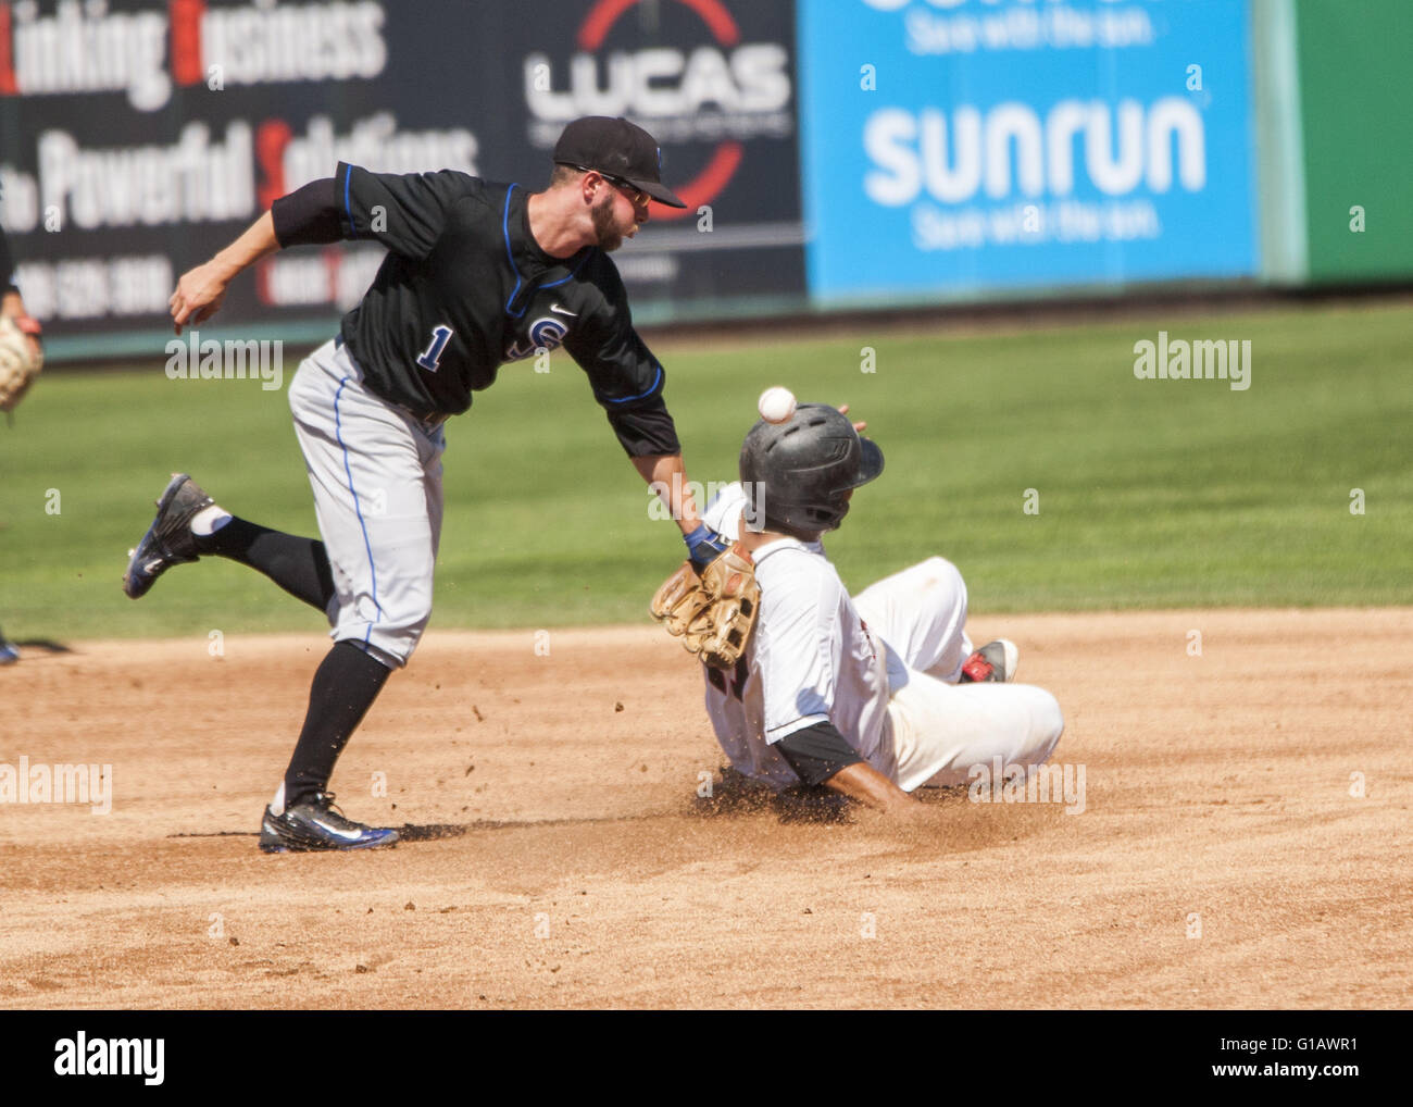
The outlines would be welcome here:
M 264 857 L 322 639 L 27 650 L 0 763 L 110 765 L 112 813 L 0 804 L 0 1005 L 1409 1004 L 1407 609 L 971 631 L 1065 708 L 1082 812 L 702 800 L 699 677 L 654 629 L 432 632 L 333 780 L 411 840 Z

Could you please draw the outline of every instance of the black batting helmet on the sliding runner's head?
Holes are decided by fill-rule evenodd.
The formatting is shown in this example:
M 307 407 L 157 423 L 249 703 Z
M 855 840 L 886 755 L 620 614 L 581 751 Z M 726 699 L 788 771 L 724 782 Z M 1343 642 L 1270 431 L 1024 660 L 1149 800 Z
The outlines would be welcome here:
M 740 481 L 756 530 L 812 539 L 849 512 L 848 492 L 883 472 L 883 451 L 861 438 L 848 416 L 803 403 L 784 423 L 760 420 L 740 447 Z

